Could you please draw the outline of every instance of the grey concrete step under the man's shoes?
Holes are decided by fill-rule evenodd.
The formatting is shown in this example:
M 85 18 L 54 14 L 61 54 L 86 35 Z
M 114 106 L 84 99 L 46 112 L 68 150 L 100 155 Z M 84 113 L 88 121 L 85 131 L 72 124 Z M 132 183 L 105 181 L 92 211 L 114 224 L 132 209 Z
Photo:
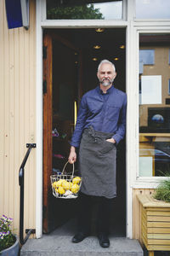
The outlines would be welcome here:
M 111 246 L 102 248 L 94 236 L 80 243 L 72 243 L 72 236 L 45 235 L 40 239 L 29 239 L 21 248 L 20 256 L 143 256 L 139 241 L 111 237 Z

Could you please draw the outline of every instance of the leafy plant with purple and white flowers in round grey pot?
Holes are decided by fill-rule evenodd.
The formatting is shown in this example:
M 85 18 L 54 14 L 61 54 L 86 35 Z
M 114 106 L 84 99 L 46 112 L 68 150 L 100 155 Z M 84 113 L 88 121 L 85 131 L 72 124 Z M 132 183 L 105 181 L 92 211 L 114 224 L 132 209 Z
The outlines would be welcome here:
M 7 218 L 5 215 L 0 218 L 0 252 L 11 247 L 16 241 L 11 231 L 12 221 L 12 218 Z

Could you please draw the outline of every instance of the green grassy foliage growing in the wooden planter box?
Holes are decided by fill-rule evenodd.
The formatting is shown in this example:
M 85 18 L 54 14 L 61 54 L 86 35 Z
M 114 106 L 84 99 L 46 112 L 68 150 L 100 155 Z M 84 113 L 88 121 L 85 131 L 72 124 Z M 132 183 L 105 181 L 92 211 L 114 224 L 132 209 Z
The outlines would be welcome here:
M 161 182 L 156 189 L 154 198 L 157 200 L 170 202 L 170 178 Z

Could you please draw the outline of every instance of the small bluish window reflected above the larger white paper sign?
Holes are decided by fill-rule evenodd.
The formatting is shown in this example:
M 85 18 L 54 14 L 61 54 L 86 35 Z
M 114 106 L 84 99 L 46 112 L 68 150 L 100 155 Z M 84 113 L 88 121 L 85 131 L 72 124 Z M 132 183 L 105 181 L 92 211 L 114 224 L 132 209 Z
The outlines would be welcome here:
M 154 49 L 140 49 L 139 50 L 139 62 L 144 65 L 153 65 L 155 61 Z

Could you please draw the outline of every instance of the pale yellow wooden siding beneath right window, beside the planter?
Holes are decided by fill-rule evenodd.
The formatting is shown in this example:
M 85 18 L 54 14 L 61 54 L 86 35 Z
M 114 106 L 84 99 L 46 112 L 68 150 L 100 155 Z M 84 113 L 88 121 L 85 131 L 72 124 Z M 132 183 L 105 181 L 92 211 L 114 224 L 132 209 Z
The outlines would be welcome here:
M 133 189 L 133 238 L 139 239 L 141 244 L 141 212 L 137 195 L 151 195 L 153 192 L 154 189 Z

